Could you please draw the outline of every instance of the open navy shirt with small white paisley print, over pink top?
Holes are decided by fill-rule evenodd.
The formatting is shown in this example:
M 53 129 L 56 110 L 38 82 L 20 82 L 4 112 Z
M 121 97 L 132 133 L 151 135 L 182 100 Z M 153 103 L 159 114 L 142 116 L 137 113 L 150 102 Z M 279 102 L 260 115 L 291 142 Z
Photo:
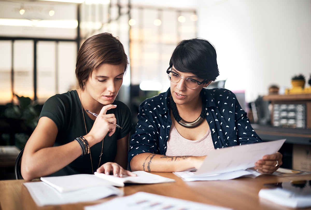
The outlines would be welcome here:
M 205 118 L 215 149 L 262 142 L 234 93 L 223 88 L 202 91 L 206 99 Z M 172 125 L 169 96 L 170 88 L 139 106 L 136 133 L 131 137 L 128 151 L 129 163 L 133 156 L 144 152 L 165 155 Z

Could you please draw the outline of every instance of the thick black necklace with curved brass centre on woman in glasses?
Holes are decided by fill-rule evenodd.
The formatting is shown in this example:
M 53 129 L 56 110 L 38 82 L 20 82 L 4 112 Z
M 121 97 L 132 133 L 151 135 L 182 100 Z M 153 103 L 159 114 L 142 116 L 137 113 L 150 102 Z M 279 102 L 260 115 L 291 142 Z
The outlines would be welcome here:
M 201 96 L 201 97 L 202 97 L 202 96 Z M 173 116 L 174 116 L 176 122 L 177 122 L 179 125 L 181 125 L 181 126 L 183 126 L 183 127 L 185 127 L 185 128 L 195 128 L 195 127 L 199 126 L 199 125 L 203 122 L 203 120 L 204 120 L 204 118 L 205 118 L 205 112 L 204 112 L 204 107 L 205 107 L 205 105 L 206 105 L 206 101 L 205 101 L 205 100 L 203 99 L 203 97 L 202 97 L 202 111 L 201 111 L 200 116 L 199 116 L 196 120 L 194 120 L 194 121 L 192 121 L 192 122 L 187 122 L 187 121 L 183 120 L 183 119 L 179 116 L 178 110 L 177 110 L 177 107 L 176 107 L 176 103 L 175 103 L 175 101 L 173 100 L 173 96 L 171 96 L 171 99 L 170 99 L 170 107 L 171 107 L 171 109 L 172 109 L 172 113 L 173 113 Z

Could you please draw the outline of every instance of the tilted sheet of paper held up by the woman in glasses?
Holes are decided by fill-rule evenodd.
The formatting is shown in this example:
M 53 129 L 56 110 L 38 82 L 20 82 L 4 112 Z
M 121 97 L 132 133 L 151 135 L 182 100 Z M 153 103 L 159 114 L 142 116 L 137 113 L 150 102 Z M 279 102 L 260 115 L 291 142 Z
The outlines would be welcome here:
M 195 176 L 221 174 L 255 166 L 264 155 L 279 151 L 286 139 L 226 147 L 210 152 Z

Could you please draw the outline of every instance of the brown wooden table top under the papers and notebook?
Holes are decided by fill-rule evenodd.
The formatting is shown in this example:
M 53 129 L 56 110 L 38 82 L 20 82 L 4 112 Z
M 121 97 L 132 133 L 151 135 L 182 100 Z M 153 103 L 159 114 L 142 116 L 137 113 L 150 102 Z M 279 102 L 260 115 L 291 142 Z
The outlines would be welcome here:
M 120 189 L 124 191 L 125 196 L 143 191 L 173 198 L 181 198 L 226 208 L 233 208 L 235 210 L 281 210 L 290 208 L 285 208 L 258 198 L 259 190 L 265 188 L 263 184 L 288 182 L 290 180 L 311 180 L 311 175 L 291 177 L 261 175 L 255 179 L 244 177 L 234 180 L 184 182 L 173 173 L 154 174 L 175 179 L 176 182 L 162 184 L 132 184 Z M 0 181 L 1 210 L 83 210 L 84 206 L 102 203 L 115 197 L 113 196 L 88 203 L 37 207 L 28 190 L 22 184 L 23 182 L 25 182 L 25 180 Z M 311 210 L 311 208 L 307 209 Z

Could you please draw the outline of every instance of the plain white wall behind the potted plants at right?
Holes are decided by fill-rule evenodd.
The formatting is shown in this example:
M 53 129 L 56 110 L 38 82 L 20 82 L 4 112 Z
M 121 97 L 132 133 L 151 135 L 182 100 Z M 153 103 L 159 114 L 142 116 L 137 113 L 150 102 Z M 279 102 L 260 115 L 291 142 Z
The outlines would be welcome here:
M 197 1 L 198 36 L 215 46 L 225 88 L 247 102 L 311 72 L 310 0 Z M 308 85 L 309 86 L 309 85 Z

